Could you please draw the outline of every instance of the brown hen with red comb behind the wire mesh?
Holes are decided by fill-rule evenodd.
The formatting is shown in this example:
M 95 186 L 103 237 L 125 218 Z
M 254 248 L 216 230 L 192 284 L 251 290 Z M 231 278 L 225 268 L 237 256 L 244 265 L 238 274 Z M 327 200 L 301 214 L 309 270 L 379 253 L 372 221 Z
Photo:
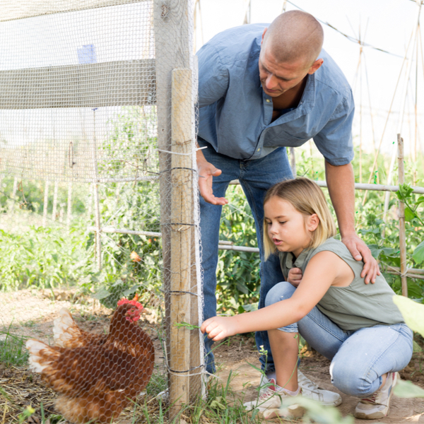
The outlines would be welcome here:
M 71 337 L 58 340 L 72 347 L 48 346 L 35 339 L 26 343 L 30 368 L 60 394 L 55 407 L 72 423 L 111 423 L 146 387 L 153 372 L 153 343 L 136 324 L 143 307 L 136 300 L 118 304 L 107 336 L 88 337 L 65 314 L 67 321 L 71 319 Z

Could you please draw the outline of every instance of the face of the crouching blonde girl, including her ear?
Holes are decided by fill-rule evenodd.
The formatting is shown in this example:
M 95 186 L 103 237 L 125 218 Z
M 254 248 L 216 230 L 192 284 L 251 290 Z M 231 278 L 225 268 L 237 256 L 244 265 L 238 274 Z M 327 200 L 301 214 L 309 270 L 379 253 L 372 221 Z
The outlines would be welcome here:
M 293 252 L 298 257 L 310 246 L 312 232 L 319 223 L 316 213 L 305 216 L 277 196 L 264 204 L 264 213 L 269 240 L 280 252 Z

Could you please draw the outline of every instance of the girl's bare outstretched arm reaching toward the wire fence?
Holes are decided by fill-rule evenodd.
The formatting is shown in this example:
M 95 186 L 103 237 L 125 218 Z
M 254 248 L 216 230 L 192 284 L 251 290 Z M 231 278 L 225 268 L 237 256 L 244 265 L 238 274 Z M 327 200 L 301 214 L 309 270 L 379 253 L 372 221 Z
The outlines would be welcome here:
M 234 317 L 212 317 L 201 325 L 201 332 L 214 341 L 249 331 L 267 331 L 293 324 L 317 305 L 336 280 L 345 262 L 332 252 L 319 252 L 310 260 L 302 283 L 290 299 L 281 300 L 254 312 Z

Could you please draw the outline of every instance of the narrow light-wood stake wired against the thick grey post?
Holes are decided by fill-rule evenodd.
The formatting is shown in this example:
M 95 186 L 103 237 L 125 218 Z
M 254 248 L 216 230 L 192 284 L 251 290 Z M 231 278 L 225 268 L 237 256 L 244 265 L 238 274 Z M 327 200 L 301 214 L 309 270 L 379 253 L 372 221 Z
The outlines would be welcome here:
M 170 418 L 189 401 L 192 238 L 192 71 L 172 71 L 172 208 L 170 296 Z M 197 323 L 196 323 L 197 324 Z

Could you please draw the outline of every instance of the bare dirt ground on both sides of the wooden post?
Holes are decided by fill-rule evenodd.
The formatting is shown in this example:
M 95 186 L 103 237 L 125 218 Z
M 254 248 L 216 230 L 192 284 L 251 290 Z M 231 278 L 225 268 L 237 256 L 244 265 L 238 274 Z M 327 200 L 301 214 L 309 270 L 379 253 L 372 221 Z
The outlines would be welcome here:
M 69 291 L 52 293 L 51 290 L 37 290 L 35 292 L 22 290 L 15 293 L 0 293 L 0 305 L 0 333 L 6 330 L 13 334 L 35 337 L 46 342 L 52 342 L 52 321 L 58 316 L 61 307 L 68 307 L 74 316 L 78 318 L 81 326 L 88 331 L 101 333 L 108 328 L 109 323 L 108 315 L 110 310 L 100 307 L 98 303 L 96 304 L 92 300 L 78 303 L 75 293 Z M 143 327 L 151 334 L 154 340 L 155 350 L 157 351 L 156 362 L 159 365 L 163 360 L 163 354 L 158 337 L 157 335 L 155 336 L 155 331 L 153 331 L 158 322 L 155 311 L 147 309 L 146 314 L 143 314 L 143 322 Z M 0 341 L 2 337 L 4 335 L 0 334 Z M 424 346 L 422 342 L 420 341 Z M 245 335 L 232 337 L 218 346 L 215 349 L 215 354 L 218 367 L 217 375 L 223 384 L 226 384 L 231 372 L 230 384 L 236 396 L 239 396 L 243 401 L 254 399 L 257 395 L 256 387 L 261 377 L 259 371 L 254 368 L 260 367 L 254 338 Z M 411 380 L 424 388 L 423 363 L 424 353 L 414 353 L 411 363 L 401 372 L 402 379 Z M 320 387 L 337 391 L 330 382 L 329 360 L 326 360 L 322 355 L 313 352 L 307 352 L 302 355 L 300 370 L 313 382 L 319 384 Z M 0 389 L 1 387 L 6 389 L 7 384 L 7 387 L 10 386 L 9 394 L 13 393 L 13 396 L 16 396 L 15 399 L 19 399 L 16 408 L 20 408 L 20 411 L 22 411 L 25 404 L 28 404 L 29 399 L 33 399 L 35 404 L 42 401 L 41 398 L 38 399 L 41 396 L 38 384 L 29 386 L 22 375 L 14 372 L 14 367 L 0 366 Z M 23 393 L 26 397 L 23 396 Z M 343 416 L 352 414 L 358 399 L 340 394 L 343 403 L 338 406 L 339 410 Z M 45 396 L 49 397 L 49 399 L 52 398 L 52 395 L 47 393 L 45 393 Z M 0 406 L 4 404 L 1 398 L 0 393 Z M 6 399 L 4 401 L 6 401 L 4 405 L 9 404 Z M 10 408 L 11 411 L 7 414 L 6 411 L 1 414 L 0 423 L 9 422 L 6 415 L 13 416 L 12 410 L 14 409 L 12 405 L 10 405 Z M 401 399 L 394 396 L 391 401 L 389 417 L 378 422 L 393 424 L 424 423 L 424 399 Z M 376 421 L 356 420 L 355 423 L 376 423 Z

